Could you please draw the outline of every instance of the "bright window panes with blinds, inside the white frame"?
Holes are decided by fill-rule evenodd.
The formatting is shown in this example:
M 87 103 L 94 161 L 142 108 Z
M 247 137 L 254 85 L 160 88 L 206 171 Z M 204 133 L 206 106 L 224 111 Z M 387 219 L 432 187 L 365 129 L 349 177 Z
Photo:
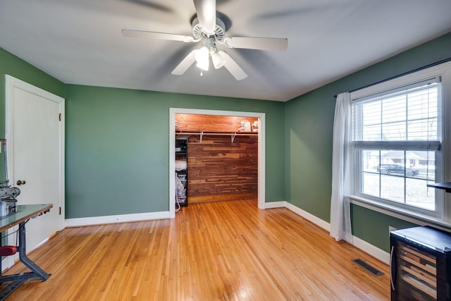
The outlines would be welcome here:
M 435 211 L 438 195 L 426 184 L 439 178 L 440 104 L 435 79 L 354 101 L 360 194 Z

